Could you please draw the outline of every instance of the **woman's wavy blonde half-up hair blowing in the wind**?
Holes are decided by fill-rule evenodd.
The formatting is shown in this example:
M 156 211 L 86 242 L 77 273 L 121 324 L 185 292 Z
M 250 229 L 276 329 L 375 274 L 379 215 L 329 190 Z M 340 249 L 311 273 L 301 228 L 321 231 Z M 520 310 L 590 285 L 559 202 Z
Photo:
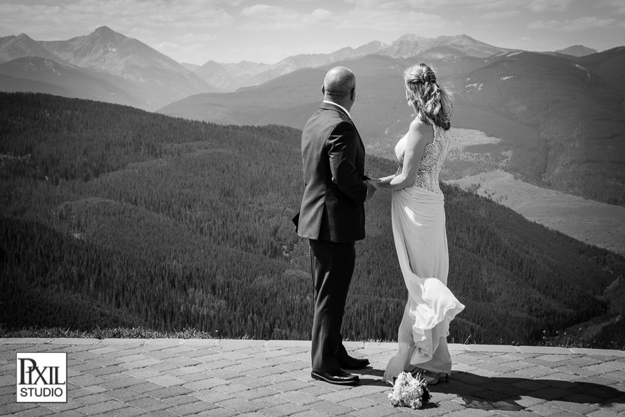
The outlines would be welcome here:
M 444 130 L 451 127 L 451 95 L 436 82 L 436 74 L 427 64 L 412 65 L 403 72 L 406 99 L 419 120 Z

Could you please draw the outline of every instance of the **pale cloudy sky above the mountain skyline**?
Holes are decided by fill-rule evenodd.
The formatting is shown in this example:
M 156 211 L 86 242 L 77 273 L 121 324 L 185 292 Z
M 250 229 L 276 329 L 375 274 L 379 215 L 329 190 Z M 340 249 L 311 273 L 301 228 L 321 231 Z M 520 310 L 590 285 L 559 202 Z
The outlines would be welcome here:
M 179 63 L 276 63 L 407 33 L 555 51 L 625 45 L 625 0 L 0 0 L 0 37 L 108 26 Z

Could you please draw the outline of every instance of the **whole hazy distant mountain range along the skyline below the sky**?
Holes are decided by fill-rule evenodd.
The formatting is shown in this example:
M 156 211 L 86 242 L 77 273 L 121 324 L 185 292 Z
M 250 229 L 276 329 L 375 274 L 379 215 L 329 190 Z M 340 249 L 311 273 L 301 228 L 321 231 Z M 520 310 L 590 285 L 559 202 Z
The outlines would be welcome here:
M 590 49 L 576 46 L 558 51 L 583 56 Z M 474 40 L 467 35 L 423 38 L 403 35 L 391 44 L 369 42 L 358 48 L 345 47 L 331 54 L 299 54 L 278 63 L 176 63 L 139 40 L 128 38 L 107 26 L 69 40 L 37 41 L 28 35 L 0 38 L 1 91 L 51 92 L 67 97 L 97 99 L 156 110 L 172 101 L 202 92 L 233 92 L 260 85 L 278 76 L 306 67 L 320 67 L 339 60 L 371 54 L 392 58 L 421 56 L 426 60 L 474 56 L 486 58 L 507 49 Z M 28 64 L 25 64 L 28 62 Z M 52 63 L 56 64 L 52 64 Z M 73 85 L 72 80 L 82 80 Z M 105 83 L 110 94 L 101 91 Z M 120 95 L 118 89 L 126 95 Z

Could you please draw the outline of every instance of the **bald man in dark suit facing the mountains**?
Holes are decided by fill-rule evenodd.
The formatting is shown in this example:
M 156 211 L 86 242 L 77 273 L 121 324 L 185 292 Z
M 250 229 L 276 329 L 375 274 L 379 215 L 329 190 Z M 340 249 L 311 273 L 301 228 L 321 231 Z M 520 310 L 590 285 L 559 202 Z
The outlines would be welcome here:
M 349 110 L 356 99 L 356 77 L 346 67 L 328 71 L 324 101 L 304 126 L 301 161 L 306 183 L 298 234 L 310 241 L 315 285 L 313 316 L 314 379 L 356 384 L 367 359 L 347 354 L 341 324 L 356 261 L 356 240 L 365 238 L 365 200 L 375 189 L 365 181 L 365 146 Z

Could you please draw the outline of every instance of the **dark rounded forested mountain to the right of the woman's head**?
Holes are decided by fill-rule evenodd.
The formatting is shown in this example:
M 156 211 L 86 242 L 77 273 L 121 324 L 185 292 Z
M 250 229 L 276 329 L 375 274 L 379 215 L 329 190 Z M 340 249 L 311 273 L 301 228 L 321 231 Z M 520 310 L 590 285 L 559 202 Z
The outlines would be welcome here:
M 508 170 L 526 181 L 625 206 L 625 91 L 559 56 L 517 51 L 484 62 L 455 80 L 464 85 L 458 107 L 477 116 L 463 125 L 502 138 Z M 500 116 L 522 129 L 510 135 L 510 123 L 494 122 Z

